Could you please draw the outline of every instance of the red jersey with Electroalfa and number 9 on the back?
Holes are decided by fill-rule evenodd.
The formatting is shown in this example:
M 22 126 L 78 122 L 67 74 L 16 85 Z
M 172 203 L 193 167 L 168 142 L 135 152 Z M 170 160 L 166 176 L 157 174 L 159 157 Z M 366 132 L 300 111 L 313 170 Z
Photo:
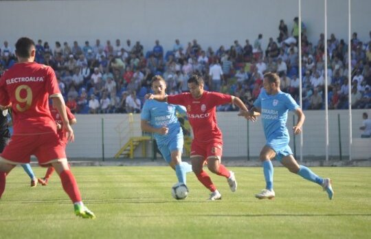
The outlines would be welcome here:
M 48 98 L 60 94 L 51 67 L 17 63 L 0 79 L 0 105 L 12 103 L 14 135 L 56 132 Z

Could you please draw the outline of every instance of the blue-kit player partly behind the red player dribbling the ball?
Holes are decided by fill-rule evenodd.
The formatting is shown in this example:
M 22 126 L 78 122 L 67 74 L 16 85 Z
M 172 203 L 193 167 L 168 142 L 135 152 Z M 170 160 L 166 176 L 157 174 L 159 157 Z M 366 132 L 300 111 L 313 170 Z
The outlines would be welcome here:
M 161 76 L 154 76 L 152 89 L 155 95 L 166 95 L 165 80 Z M 162 156 L 175 170 L 179 183 L 186 184 L 186 173 L 192 172 L 192 166 L 181 161 L 183 130 L 177 118 L 177 111 L 186 113 L 186 108 L 157 100 L 146 100 L 141 113 L 141 128 L 154 133 Z

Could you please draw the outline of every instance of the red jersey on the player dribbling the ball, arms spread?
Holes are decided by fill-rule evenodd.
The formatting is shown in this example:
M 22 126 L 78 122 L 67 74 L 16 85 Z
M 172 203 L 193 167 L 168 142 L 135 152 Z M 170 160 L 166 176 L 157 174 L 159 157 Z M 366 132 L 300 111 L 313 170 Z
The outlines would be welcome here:
M 201 98 L 196 100 L 191 93 L 181 93 L 168 95 L 168 103 L 186 106 L 194 140 L 199 142 L 222 140 L 221 130 L 216 124 L 216 106 L 232 103 L 231 95 L 204 91 Z

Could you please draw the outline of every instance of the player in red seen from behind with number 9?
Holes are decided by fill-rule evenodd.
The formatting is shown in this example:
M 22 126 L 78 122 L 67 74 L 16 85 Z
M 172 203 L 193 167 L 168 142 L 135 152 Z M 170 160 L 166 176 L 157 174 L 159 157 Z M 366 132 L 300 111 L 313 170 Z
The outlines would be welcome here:
M 0 198 L 5 190 L 5 176 L 16 164 L 30 163 L 35 155 L 41 166 L 52 165 L 59 174 L 63 189 L 74 203 L 75 214 L 95 218 L 82 203 L 74 174 L 69 170 L 65 146 L 60 144 L 56 123 L 49 111 L 48 98 L 60 113 L 67 139 L 74 141 L 67 119 L 65 102 L 52 67 L 34 62 L 35 43 L 30 38 L 16 42 L 18 63 L 0 79 L 0 109 L 12 108 L 14 133 L 0 155 Z

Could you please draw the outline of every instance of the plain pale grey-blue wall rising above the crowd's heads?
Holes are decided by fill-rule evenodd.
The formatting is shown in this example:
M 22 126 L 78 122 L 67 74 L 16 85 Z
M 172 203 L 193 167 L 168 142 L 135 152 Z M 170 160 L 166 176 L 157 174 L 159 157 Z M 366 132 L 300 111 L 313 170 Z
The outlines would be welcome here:
M 324 1 L 302 0 L 302 21 L 309 40 L 317 43 L 324 32 Z M 328 34 L 348 41 L 348 0 L 328 0 Z M 369 41 L 371 30 L 370 0 L 352 0 L 352 32 Z M 297 0 L 105 0 L 105 1 L 0 1 L 2 41 L 15 43 L 20 36 L 48 41 L 86 40 L 101 43 L 116 38 L 141 41 L 146 50 L 159 39 L 165 49 L 172 49 L 175 38 L 183 45 L 196 38 L 204 48 L 229 47 L 237 39 L 253 43 L 263 34 L 278 36 L 278 23 L 284 19 L 292 29 L 298 15 Z

